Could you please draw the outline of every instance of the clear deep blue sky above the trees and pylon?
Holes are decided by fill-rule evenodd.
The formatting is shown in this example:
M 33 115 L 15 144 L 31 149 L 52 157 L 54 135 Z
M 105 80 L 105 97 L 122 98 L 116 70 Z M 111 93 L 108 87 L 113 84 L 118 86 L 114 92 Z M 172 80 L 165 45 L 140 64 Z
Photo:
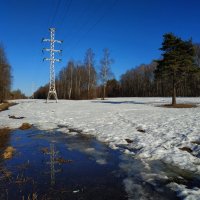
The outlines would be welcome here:
M 107 47 L 119 79 L 126 70 L 159 58 L 166 32 L 200 42 L 199 10 L 199 0 L 0 0 L 0 42 L 12 66 L 13 89 L 31 95 L 33 83 L 36 88 L 48 83 L 41 39 L 49 37 L 50 26 L 57 29 L 56 39 L 64 40 L 56 72 L 69 59 L 83 61 L 88 48 L 95 52 L 98 70 Z

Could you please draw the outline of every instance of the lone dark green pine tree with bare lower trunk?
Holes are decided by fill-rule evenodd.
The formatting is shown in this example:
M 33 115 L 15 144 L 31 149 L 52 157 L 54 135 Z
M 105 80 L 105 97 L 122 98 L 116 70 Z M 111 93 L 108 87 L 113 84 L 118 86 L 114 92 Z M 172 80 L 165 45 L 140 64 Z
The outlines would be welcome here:
M 162 59 L 157 61 L 155 78 L 168 81 L 172 89 L 172 105 L 176 105 L 176 91 L 188 75 L 197 71 L 195 51 L 191 40 L 183 41 L 172 33 L 164 36 Z

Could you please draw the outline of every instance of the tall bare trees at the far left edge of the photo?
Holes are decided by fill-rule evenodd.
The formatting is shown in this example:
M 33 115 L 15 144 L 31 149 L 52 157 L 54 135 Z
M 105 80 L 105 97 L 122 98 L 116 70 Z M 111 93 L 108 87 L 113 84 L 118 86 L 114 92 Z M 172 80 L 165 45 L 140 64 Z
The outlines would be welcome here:
M 6 57 L 4 47 L 0 44 L 0 103 L 10 97 L 11 80 L 11 66 Z

